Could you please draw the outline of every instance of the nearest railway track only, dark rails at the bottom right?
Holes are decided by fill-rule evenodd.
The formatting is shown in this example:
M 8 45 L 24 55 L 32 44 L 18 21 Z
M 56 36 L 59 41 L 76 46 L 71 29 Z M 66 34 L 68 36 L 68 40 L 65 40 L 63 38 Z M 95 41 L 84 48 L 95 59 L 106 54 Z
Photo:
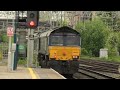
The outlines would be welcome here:
M 73 78 L 74 79 L 120 79 L 120 75 L 79 68 L 78 72 L 73 75 Z

